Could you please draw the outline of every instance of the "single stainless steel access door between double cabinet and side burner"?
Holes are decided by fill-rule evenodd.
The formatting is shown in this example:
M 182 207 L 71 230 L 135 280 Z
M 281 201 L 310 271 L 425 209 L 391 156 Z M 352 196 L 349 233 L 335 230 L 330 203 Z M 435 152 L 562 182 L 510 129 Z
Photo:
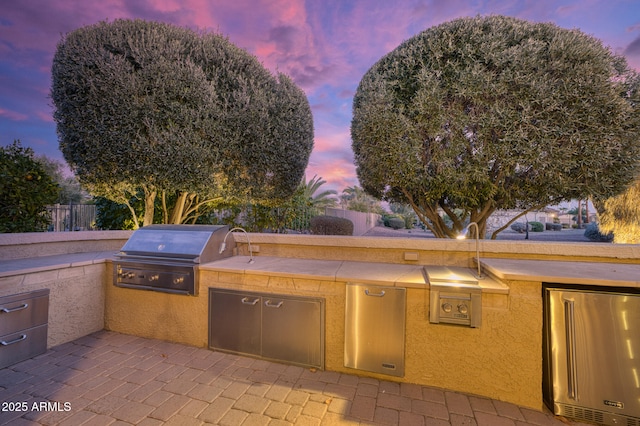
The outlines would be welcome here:
M 403 377 L 406 289 L 346 287 L 345 367 Z

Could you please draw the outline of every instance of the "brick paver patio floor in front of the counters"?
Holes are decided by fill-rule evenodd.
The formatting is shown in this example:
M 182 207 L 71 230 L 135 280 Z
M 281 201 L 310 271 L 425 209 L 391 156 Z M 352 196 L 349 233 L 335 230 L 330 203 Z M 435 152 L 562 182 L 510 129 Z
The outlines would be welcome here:
M 0 403 L 0 425 L 18 426 L 566 424 L 443 389 L 108 331 L 0 369 Z

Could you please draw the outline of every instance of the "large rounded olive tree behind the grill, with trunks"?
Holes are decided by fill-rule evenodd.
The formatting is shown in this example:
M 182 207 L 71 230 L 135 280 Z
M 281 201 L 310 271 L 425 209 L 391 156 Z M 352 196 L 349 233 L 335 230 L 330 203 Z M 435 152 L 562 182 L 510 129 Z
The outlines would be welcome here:
M 217 34 L 142 20 L 62 38 L 52 66 L 60 149 L 94 195 L 143 223 L 193 221 L 220 198 L 292 194 L 313 147 L 305 94 Z

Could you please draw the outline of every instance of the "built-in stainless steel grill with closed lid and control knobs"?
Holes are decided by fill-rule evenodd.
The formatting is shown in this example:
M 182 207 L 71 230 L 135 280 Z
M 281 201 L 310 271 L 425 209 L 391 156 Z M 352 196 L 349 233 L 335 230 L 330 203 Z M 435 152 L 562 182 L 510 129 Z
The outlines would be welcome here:
M 196 295 L 198 265 L 229 257 L 226 225 L 149 225 L 135 231 L 113 262 L 118 287 Z M 226 249 L 221 250 L 225 242 Z M 222 251 L 222 253 L 220 253 Z

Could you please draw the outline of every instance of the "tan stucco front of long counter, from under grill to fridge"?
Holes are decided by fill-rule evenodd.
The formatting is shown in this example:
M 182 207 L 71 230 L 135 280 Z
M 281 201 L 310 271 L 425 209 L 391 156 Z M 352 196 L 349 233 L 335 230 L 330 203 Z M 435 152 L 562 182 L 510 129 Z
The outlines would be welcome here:
M 127 334 L 208 345 L 208 288 L 325 299 L 325 368 L 419 383 L 542 409 L 540 283 L 511 283 L 483 296 L 477 329 L 431 324 L 428 289 L 407 291 L 405 376 L 344 367 L 346 282 L 203 270 L 197 297 L 107 287 L 105 328 Z

